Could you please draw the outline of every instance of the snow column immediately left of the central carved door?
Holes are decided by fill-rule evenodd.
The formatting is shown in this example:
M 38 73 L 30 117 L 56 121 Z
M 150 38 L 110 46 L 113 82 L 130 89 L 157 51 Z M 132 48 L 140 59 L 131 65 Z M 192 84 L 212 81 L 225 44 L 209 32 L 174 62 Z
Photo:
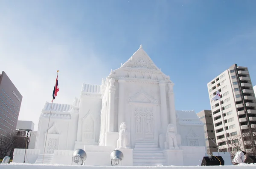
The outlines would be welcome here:
M 122 122 L 125 122 L 125 112 L 124 112 L 124 83 L 125 80 L 119 79 L 119 91 L 118 91 L 118 130 Z

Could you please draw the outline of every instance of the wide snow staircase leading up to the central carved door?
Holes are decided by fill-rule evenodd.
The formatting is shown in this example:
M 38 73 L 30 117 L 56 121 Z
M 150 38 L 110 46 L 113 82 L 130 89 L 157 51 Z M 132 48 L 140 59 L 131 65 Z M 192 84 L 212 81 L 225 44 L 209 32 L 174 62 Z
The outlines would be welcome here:
M 154 142 L 136 142 L 133 150 L 133 166 L 165 166 L 163 151 Z

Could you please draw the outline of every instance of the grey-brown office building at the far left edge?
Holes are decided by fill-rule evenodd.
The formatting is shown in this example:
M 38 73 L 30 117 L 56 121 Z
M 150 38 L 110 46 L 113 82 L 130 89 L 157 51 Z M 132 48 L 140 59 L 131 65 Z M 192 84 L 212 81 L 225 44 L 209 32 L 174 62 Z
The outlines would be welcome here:
M 22 96 L 3 71 L 0 74 L 0 138 L 15 134 Z

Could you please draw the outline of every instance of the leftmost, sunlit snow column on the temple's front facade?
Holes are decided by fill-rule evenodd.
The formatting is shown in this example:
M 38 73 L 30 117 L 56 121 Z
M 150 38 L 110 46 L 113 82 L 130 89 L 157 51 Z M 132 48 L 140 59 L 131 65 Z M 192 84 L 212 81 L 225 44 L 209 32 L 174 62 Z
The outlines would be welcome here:
M 114 132 L 114 109 L 115 109 L 115 79 L 110 79 L 110 86 L 109 86 L 109 106 L 108 106 L 108 132 Z

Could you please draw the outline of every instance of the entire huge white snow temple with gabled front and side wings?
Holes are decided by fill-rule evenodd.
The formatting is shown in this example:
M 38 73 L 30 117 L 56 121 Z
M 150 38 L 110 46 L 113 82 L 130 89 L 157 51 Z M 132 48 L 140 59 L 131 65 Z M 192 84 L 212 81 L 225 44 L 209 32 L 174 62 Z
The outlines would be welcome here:
M 53 103 L 44 163 L 71 164 L 73 151 L 84 149 L 86 165 L 109 166 L 119 149 L 123 166 L 200 165 L 204 124 L 194 111 L 175 110 L 173 87 L 140 45 L 101 85 L 84 83 L 73 104 Z M 27 150 L 30 163 L 42 162 L 50 107 L 42 110 L 35 150 Z

